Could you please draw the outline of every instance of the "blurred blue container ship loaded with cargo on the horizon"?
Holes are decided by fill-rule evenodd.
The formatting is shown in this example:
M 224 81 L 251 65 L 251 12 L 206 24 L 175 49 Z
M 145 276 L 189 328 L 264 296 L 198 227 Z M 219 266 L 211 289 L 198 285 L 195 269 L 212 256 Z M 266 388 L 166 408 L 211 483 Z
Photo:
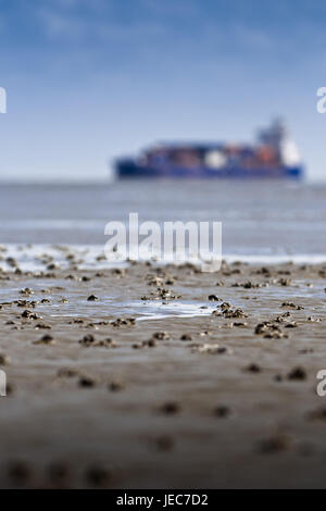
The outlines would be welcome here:
M 255 145 L 158 144 L 115 162 L 118 178 L 290 178 L 303 176 L 294 141 L 277 120 L 259 132 Z

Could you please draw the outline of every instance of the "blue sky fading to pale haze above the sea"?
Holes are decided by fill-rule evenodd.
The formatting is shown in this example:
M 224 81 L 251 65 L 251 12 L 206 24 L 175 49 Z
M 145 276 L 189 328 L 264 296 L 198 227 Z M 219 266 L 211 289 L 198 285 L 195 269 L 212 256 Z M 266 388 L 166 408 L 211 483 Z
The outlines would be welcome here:
M 325 0 L 0 0 L 1 180 L 105 179 L 156 140 L 281 115 L 326 179 Z

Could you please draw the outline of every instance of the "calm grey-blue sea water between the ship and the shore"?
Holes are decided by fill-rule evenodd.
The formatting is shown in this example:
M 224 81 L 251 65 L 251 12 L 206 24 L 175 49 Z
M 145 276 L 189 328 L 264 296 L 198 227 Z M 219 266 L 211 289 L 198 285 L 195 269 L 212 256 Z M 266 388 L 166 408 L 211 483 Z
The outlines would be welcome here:
M 106 222 L 129 212 L 140 222 L 221 221 L 224 256 L 326 254 L 326 185 L 286 182 L 1 185 L 0 242 L 103 246 Z

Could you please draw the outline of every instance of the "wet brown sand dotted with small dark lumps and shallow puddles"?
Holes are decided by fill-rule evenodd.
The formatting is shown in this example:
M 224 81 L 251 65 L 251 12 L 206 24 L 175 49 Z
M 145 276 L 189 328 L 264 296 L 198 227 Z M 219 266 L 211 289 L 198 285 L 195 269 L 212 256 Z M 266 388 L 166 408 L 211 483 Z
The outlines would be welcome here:
M 326 264 L 2 256 L 2 488 L 326 486 Z

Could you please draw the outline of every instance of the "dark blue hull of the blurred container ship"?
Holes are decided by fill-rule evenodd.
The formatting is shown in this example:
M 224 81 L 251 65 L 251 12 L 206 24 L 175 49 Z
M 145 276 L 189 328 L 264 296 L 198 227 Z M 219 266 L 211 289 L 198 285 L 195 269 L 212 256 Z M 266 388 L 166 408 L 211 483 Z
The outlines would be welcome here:
M 205 166 L 185 167 L 167 165 L 164 167 L 150 167 L 139 165 L 133 160 L 120 160 L 116 162 L 116 173 L 120 178 L 273 178 L 273 179 L 301 179 L 303 169 L 301 166 L 278 167 L 224 167 L 212 170 Z

